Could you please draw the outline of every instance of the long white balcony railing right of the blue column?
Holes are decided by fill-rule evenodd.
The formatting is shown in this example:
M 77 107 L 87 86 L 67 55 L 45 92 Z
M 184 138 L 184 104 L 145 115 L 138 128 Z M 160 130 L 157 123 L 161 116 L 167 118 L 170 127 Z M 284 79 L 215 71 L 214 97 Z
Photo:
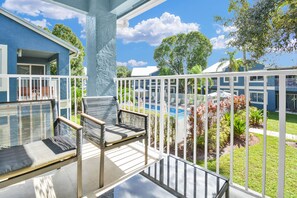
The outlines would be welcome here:
M 286 170 L 286 76 L 297 75 L 297 70 L 283 71 L 263 71 L 263 72 L 234 72 L 234 73 L 213 73 L 203 75 L 180 75 L 180 76 L 154 76 L 154 77 L 135 77 L 135 78 L 118 78 L 117 93 L 121 108 L 126 108 L 138 112 L 146 112 L 149 114 L 149 145 L 152 148 L 158 149 L 160 154 L 171 153 L 175 156 L 192 161 L 193 163 L 202 164 L 205 168 L 211 168 L 220 174 L 221 168 L 229 167 L 228 175 L 230 184 L 233 187 L 239 188 L 245 192 L 252 193 L 264 197 L 267 193 L 268 181 L 267 175 L 270 174 L 267 170 L 267 158 L 271 153 L 268 151 L 268 135 L 267 135 L 267 107 L 271 100 L 276 100 L 271 95 L 268 84 L 268 78 L 273 76 L 279 79 L 279 137 L 277 140 L 278 160 L 275 164 L 277 172 L 277 184 L 274 194 L 270 196 L 284 197 L 285 191 L 285 175 Z M 262 85 L 255 87 L 250 85 L 250 77 L 263 77 Z M 238 90 L 234 86 L 234 80 L 231 79 L 228 89 L 226 86 L 220 86 L 219 82 L 225 77 L 243 77 L 245 79 L 244 88 Z M 216 79 L 213 81 L 212 79 Z M 216 82 L 216 86 L 213 83 Z M 215 87 L 215 90 L 212 90 Z M 237 89 L 237 90 L 236 90 Z M 260 188 L 255 187 L 255 181 L 252 180 L 251 173 L 255 170 L 250 161 L 250 111 L 253 103 L 250 100 L 250 94 L 261 92 L 263 100 L 259 98 L 256 106 L 263 109 L 263 129 L 262 138 L 263 145 L 261 152 L 262 162 L 259 162 L 261 171 L 257 173 L 259 177 Z M 211 93 L 215 92 L 215 93 Z M 229 94 L 228 94 L 229 92 Z M 244 96 L 235 96 L 234 93 Z M 262 97 L 261 94 L 258 94 Z M 260 97 L 259 96 L 259 97 Z M 241 100 L 242 112 L 244 112 L 241 121 L 244 122 L 244 160 L 240 164 L 242 166 L 241 174 L 243 182 L 240 185 L 238 175 L 235 174 L 235 169 L 238 169 L 238 163 L 235 160 L 234 152 L 237 148 L 235 142 L 236 129 L 234 125 L 237 122 L 236 111 L 238 101 Z M 242 101 L 243 100 L 243 101 Z M 220 104 L 220 105 L 217 105 Z M 227 104 L 227 105 L 226 105 Z M 229 106 L 228 106 L 229 104 Z M 225 106 L 224 106 L 225 105 Z M 194 113 L 196 112 L 196 113 Z M 220 161 L 222 156 L 222 147 L 220 141 L 224 131 L 222 129 L 222 118 L 226 113 L 230 114 L 230 124 L 228 128 L 228 142 L 226 147 L 229 148 L 229 161 Z M 225 130 L 225 129 L 224 129 Z M 201 139 L 201 137 L 203 137 Z M 212 148 L 210 150 L 210 148 Z M 296 152 L 297 154 L 297 152 Z M 296 155 L 295 155 L 296 156 Z M 242 157 L 241 157 L 242 158 Z M 215 166 L 209 167 L 209 163 L 215 161 Z M 271 170 L 269 170 L 271 171 Z M 297 186 L 296 180 L 294 180 Z

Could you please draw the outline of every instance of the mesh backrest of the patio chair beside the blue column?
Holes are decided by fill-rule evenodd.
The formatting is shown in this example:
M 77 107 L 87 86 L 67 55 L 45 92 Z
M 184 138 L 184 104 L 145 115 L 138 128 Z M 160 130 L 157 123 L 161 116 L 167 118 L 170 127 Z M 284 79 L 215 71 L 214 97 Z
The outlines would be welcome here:
M 83 98 L 84 112 L 106 125 L 114 125 L 117 122 L 118 103 L 113 96 L 96 96 Z

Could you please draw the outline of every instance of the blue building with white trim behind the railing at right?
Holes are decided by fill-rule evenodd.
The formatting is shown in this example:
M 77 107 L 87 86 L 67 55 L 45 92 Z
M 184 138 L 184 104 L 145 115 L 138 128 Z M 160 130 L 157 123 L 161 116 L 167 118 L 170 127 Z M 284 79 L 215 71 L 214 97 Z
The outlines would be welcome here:
M 208 68 L 206 68 L 203 73 L 216 73 L 216 72 L 228 72 L 229 61 L 218 62 Z M 277 68 L 267 68 L 263 64 L 256 64 L 254 67 L 250 68 L 250 71 L 263 71 L 263 70 L 278 70 L 278 69 L 294 69 L 294 67 L 277 67 Z M 240 71 L 244 71 L 241 67 Z M 210 87 L 209 91 L 217 91 L 217 78 L 213 78 L 213 85 Z M 226 92 L 230 92 L 229 78 L 220 78 L 220 89 Z M 268 91 L 268 104 L 267 109 L 269 111 L 278 110 L 278 97 L 279 97 L 279 86 L 278 78 L 275 76 L 269 76 L 267 79 L 267 91 Z M 249 82 L 249 92 L 250 101 L 253 106 L 258 108 L 263 108 L 264 102 L 264 78 L 263 76 L 252 76 Z M 245 92 L 245 82 L 244 77 L 234 77 L 234 94 L 244 95 Z M 286 91 L 287 91 L 287 111 L 297 112 L 297 76 L 287 76 L 286 79 Z

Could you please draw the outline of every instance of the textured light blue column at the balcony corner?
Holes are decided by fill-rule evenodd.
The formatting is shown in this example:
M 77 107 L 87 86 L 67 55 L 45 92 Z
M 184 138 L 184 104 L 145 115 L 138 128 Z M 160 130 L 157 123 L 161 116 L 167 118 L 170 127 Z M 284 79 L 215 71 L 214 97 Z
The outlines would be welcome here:
M 87 16 L 88 96 L 116 95 L 116 21 L 109 0 L 90 0 Z

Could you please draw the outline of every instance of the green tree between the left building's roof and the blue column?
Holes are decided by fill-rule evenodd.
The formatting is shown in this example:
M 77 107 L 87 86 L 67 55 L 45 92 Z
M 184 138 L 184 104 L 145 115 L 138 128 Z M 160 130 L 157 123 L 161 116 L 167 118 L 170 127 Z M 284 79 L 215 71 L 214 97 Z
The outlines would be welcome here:
M 75 33 L 69 27 L 63 24 L 56 24 L 52 30 L 52 34 L 79 49 L 80 53 L 78 57 L 71 59 L 71 62 L 70 62 L 71 75 L 73 76 L 84 75 L 83 62 L 85 57 L 85 51 L 80 39 L 75 35 Z M 55 71 L 56 71 L 56 65 L 53 64 L 51 65 L 51 73 L 55 74 Z

